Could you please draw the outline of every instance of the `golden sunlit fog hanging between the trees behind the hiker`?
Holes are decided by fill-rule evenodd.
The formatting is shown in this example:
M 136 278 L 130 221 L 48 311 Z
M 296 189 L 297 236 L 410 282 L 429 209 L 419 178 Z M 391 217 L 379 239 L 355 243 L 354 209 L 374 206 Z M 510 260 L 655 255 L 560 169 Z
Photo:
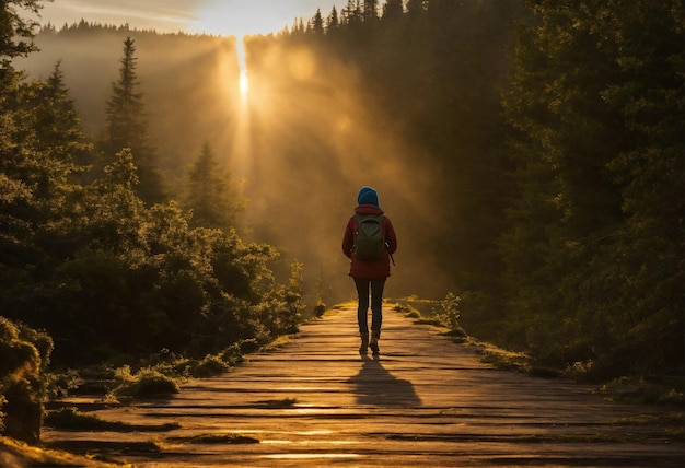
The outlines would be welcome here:
M 127 36 L 136 40 L 152 142 L 172 186 L 184 183 L 209 142 L 243 184 L 247 237 L 275 245 L 283 271 L 293 259 L 304 264 L 310 294 L 322 281 L 332 299 L 353 295 L 340 243 L 364 185 L 379 190 L 399 237 L 387 294 L 441 297 L 453 286 L 426 236 L 439 223 L 440 167 L 406 141 L 402 116 L 364 92 L 352 66 L 330 57 L 321 63 L 305 46 L 265 46 L 260 36 L 253 51 L 247 38 L 249 91 L 242 96 L 234 37 L 97 28 L 44 32 L 40 51 L 19 65 L 46 78 L 59 60 L 84 130 L 96 137 Z

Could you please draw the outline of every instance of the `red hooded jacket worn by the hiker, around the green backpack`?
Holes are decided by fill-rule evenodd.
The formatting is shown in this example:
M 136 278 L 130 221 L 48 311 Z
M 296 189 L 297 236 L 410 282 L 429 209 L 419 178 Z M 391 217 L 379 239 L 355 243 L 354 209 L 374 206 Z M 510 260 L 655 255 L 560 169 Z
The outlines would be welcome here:
M 355 208 L 355 212 L 361 215 L 384 214 L 383 210 L 373 204 L 360 204 Z M 372 280 L 376 278 L 390 277 L 390 256 L 397 250 L 397 237 L 390 218 L 383 217 L 383 237 L 385 238 L 385 255 L 380 260 L 361 261 L 356 258 L 355 236 L 359 230 L 359 222 L 351 217 L 345 229 L 342 237 L 342 253 L 350 259 L 350 277 L 360 280 Z

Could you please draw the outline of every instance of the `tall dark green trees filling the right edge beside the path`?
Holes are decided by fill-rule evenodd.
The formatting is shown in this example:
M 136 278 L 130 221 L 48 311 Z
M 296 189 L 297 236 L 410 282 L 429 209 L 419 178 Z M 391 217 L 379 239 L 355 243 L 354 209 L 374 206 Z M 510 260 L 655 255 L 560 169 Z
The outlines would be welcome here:
M 596 377 L 682 372 L 683 5 L 530 5 L 504 95 L 503 336 Z

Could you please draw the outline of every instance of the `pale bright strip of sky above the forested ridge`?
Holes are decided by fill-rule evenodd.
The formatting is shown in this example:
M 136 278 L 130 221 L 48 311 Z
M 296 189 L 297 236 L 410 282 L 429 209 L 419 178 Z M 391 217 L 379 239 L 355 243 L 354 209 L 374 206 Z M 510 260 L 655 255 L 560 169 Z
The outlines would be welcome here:
M 40 23 L 60 28 L 89 23 L 155 30 L 162 33 L 207 33 L 236 36 L 278 33 L 298 17 L 324 17 L 347 0 L 54 0 L 44 2 Z

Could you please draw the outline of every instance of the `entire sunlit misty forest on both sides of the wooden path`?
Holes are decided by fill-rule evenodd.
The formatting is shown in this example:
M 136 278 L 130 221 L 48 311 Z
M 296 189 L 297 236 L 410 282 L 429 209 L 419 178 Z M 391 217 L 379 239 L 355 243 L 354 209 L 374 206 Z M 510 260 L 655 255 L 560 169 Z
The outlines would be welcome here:
M 468 334 L 568 375 L 682 381 L 681 2 L 349 0 L 242 45 L 38 31 L 39 3 L 0 16 L 9 433 L 50 362 L 201 358 L 351 296 L 362 185 L 387 294 L 454 293 Z

